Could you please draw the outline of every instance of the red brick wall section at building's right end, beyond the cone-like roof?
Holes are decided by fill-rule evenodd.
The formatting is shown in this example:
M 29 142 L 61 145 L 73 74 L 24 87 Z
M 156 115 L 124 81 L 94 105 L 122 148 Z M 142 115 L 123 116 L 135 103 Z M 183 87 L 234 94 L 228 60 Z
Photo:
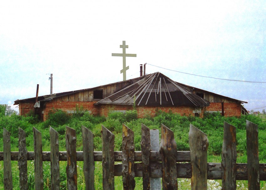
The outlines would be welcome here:
M 224 116 L 241 116 L 241 104 L 240 103 L 223 103 Z M 210 103 L 206 107 L 206 111 L 220 111 L 222 112 L 222 103 Z

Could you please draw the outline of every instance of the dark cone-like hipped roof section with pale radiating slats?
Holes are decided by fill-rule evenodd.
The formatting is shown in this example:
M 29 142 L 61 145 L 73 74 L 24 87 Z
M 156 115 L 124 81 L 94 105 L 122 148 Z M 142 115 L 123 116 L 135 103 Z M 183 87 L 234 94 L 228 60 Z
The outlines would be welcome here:
M 130 86 L 100 100 L 97 104 L 136 106 L 194 106 L 205 107 L 210 103 L 187 91 L 179 83 L 162 73 L 148 74 Z

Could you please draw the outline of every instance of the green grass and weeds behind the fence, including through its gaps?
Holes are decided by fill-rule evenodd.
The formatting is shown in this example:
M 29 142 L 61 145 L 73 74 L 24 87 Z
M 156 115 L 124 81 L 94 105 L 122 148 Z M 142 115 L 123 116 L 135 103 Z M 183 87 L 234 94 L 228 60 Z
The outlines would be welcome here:
M 59 119 L 58 119 L 59 118 Z M 77 134 L 77 151 L 82 151 L 81 125 L 89 128 L 94 134 L 95 151 L 101 151 L 101 125 L 115 134 L 115 151 L 121 150 L 122 142 L 122 123 L 125 123 L 130 129 L 134 131 L 135 149 L 140 151 L 141 139 L 141 123 L 144 123 L 149 128 L 159 129 L 161 123 L 164 123 L 170 128 L 175 135 L 178 150 L 189 150 L 188 145 L 188 131 L 189 124 L 192 123 L 195 127 L 207 134 L 209 139 L 208 148 L 208 162 L 221 162 L 221 149 L 223 141 L 223 122 L 226 121 L 234 125 L 237 130 L 237 163 L 247 163 L 246 157 L 246 131 L 245 120 L 248 119 L 253 123 L 258 124 L 259 131 L 259 160 L 260 163 L 266 163 L 266 117 L 262 114 L 259 116 L 242 116 L 241 118 L 225 118 L 219 114 L 206 115 L 204 118 L 184 117 L 173 113 L 158 112 L 155 118 L 140 118 L 137 119 L 134 111 L 130 113 L 110 113 L 108 118 L 94 117 L 88 113 L 79 113 L 79 116 L 69 117 L 65 113 L 59 111 L 54 112 L 52 117 L 46 122 L 38 122 L 34 116 L 20 117 L 0 117 L 0 141 L 2 142 L 3 128 L 11 132 L 11 149 L 18 151 L 18 137 L 17 128 L 21 127 L 27 133 L 27 149 L 33 151 L 33 134 L 32 127 L 36 127 L 42 133 L 43 151 L 49 151 L 49 126 L 52 126 L 59 132 L 59 150 L 65 151 L 65 126 L 72 127 Z M 0 151 L 3 151 L 3 144 L 0 143 Z M 19 173 L 17 168 L 17 161 L 12 161 L 12 175 L 13 175 L 13 189 L 19 189 Z M 117 164 L 117 163 L 116 163 Z M 66 189 L 66 161 L 60 161 L 60 185 L 61 189 Z M 83 162 L 77 162 L 78 172 L 78 189 L 85 189 Z M 0 161 L 0 171 L 3 171 L 3 161 Z M 50 163 L 43 162 L 44 174 L 44 189 L 50 188 Z M 136 177 L 135 189 L 142 189 L 142 178 Z M 3 172 L 0 172 L 0 182 L 3 181 Z M 177 179 L 178 189 L 190 189 L 190 179 Z M 208 180 L 208 189 L 219 189 L 221 187 L 221 180 Z M 1 184 L 1 183 L 0 183 Z M 115 177 L 115 189 L 123 189 L 122 177 Z M 246 189 L 248 187 L 247 181 L 237 181 L 237 189 Z M 34 189 L 34 163 L 28 161 L 28 185 L 29 189 Z M 0 190 L 3 187 L 0 185 Z M 101 162 L 95 162 L 95 189 L 102 189 L 102 166 Z M 265 189 L 265 182 L 261 182 L 261 189 Z

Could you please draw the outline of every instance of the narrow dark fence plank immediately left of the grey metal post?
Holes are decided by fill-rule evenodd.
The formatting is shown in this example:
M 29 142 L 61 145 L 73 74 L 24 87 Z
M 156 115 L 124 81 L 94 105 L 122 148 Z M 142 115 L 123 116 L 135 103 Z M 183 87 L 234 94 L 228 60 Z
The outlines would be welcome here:
M 146 127 L 146 125 L 141 123 L 141 158 L 142 158 L 143 190 L 150 189 L 150 155 L 151 155 L 150 129 Z

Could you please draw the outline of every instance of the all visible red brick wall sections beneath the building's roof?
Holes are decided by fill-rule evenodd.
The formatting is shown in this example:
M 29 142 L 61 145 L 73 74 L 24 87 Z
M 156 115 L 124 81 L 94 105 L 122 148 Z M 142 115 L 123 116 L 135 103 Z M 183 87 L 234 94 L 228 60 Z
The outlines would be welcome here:
M 95 101 L 96 102 L 96 101 Z M 97 105 L 94 106 L 95 102 L 63 102 L 63 101 L 56 101 L 52 100 L 50 102 L 45 103 L 45 108 L 41 113 L 41 118 L 45 121 L 48 118 L 48 113 L 52 109 L 61 109 L 65 112 L 74 113 L 76 110 L 76 105 L 79 108 L 83 107 L 84 110 L 89 110 L 93 115 L 103 115 L 105 117 L 108 116 L 108 113 L 112 110 L 116 111 L 126 111 L 133 109 L 132 106 L 128 105 Z M 31 110 L 34 111 L 33 108 L 34 103 L 21 103 L 19 106 L 19 114 L 25 115 L 29 113 Z M 172 113 L 178 113 L 180 115 L 185 116 L 194 116 L 195 113 L 193 112 L 195 108 L 180 106 L 180 107 L 151 107 L 151 106 L 137 106 L 136 107 L 138 117 L 144 118 L 146 116 L 154 117 L 157 110 L 161 110 L 163 112 L 169 112 L 171 110 Z M 206 111 L 217 112 L 222 111 L 222 104 L 221 103 L 210 103 L 208 107 L 206 107 Z M 201 113 L 199 116 L 202 117 L 204 112 L 204 108 L 202 108 Z M 224 103 L 224 116 L 241 116 L 241 104 L 240 103 Z

